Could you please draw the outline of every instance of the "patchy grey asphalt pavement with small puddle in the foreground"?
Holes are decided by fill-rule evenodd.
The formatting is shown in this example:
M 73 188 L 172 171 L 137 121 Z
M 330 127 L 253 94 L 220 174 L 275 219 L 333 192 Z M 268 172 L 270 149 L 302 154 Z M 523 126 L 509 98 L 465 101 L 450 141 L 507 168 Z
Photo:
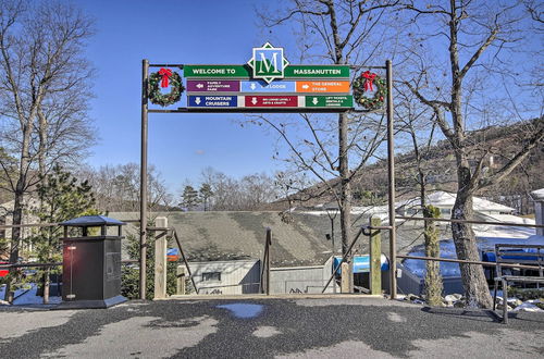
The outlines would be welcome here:
M 2 358 L 539 358 L 544 314 L 381 298 L 129 301 L 0 308 Z

